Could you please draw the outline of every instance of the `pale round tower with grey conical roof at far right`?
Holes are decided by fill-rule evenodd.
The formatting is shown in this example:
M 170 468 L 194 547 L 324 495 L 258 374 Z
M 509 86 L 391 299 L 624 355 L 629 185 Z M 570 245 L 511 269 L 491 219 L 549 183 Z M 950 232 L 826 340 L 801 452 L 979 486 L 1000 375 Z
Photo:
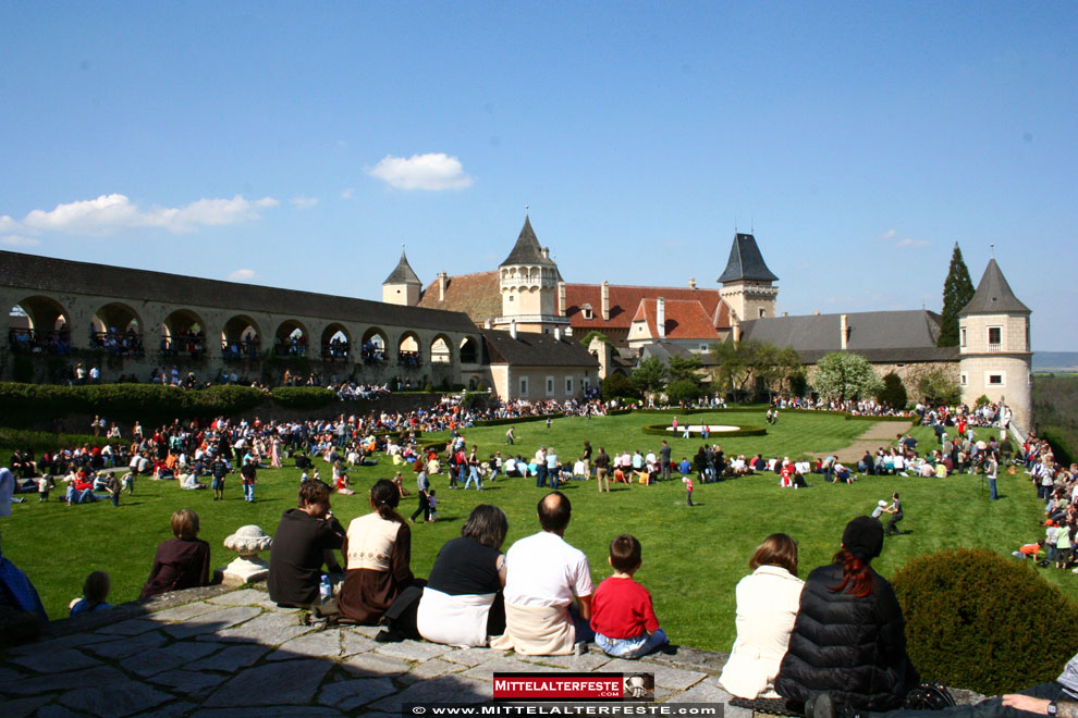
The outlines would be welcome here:
M 973 406 L 981 396 L 1003 401 L 1024 432 L 1032 428 L 1032 375 L 1029 307 L 989 260 L 977 293 L 958 312 L 958 371 L 961 400 Z

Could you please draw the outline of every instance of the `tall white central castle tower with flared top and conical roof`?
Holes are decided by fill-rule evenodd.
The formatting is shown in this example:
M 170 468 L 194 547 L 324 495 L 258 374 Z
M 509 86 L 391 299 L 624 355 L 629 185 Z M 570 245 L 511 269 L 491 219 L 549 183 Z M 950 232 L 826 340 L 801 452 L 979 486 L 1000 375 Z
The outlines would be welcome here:
M 550 250 L 539 246 L 531 220 L 525 215 L 513 251 L 498 268 L 502 315 L 494 319 L 494 329 L 507 329 L 514 320 L 520 332 L 549 334 L 556 326 L 568 326 L 568 318 L 558 313 L 558 284 L 561 281 L 561 272 L 550 258 Z

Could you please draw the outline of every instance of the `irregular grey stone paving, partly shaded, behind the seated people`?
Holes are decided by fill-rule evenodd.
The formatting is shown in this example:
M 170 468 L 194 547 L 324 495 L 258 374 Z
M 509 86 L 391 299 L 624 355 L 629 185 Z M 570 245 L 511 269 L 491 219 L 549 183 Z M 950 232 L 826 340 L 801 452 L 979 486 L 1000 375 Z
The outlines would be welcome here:
M 301 626 L 298 611 L 252 587 L 182 592 L 170 603 L 179 605 L 58 621 L 60 635 L 9 651 L 0 663 L 0 715 L 379 718 L 400 716 L 404 703 L 489 701 L 495 671 L 535 670 L 651 671 L 658 701 L 730 700 L 716 680 L 726 656 L 694 648 L 638 661 L 595 647 L 581 656 L 516 656 L 376 643 L 370 627 Z M 728 705 L 725 715 L 751 718 Z

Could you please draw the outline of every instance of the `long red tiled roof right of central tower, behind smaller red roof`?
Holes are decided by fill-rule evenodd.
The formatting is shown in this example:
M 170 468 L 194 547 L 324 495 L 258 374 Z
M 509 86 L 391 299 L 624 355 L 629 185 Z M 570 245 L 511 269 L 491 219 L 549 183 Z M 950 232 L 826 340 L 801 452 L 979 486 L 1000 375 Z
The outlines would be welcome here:
M 566 284 L 565 315 L 573 331 L 624 329 L 628 331 L 633 317 L 640 307 L 642 299 L 654 300 L 658 297 L 671 301 L 697 301 L 711 318 L 712 326 L 721 330 L 730 329 L 730 307 L 719 296 L 719 289 L 689 289 L 677 287 L 648 287 L 624 284 L 611 284 L 610 289 L 610 321 L 602 320 L 602 285 L 601 284 Z M 591 319 L 584 318 L 584 305 L 591 305 Z M 667 309 L 669 313 L 669 309 Z

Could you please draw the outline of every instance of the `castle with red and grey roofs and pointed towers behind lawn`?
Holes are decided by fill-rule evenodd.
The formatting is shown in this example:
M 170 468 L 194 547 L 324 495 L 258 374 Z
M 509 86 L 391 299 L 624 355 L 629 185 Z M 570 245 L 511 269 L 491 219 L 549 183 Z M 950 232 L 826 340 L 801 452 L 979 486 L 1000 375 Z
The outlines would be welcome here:
M 610 342 L 605 355 L 595 343 L 589 348 L 599 358 L 601 376 L 626 372 L 645 352 L 702 355 L 727 338 L 791 346 L 810 371 L 831 351 L 856 352 L 881 375 L 895 372 L 911 395 L 924 372 L 943 368 L 958 382 L 965 404 L 972 406 L 981 396 L 1005 401 L 1015 423 L 1030 426 L 1030 309 L 1015 296 L 995 259 L 959 312 L 957 347 L 936 346 L 940 315 L 923 309 L 780 315 L 777 281 L 756 237 L 735 233 L 718 289 L 700 287 L 695 278 L 686 287 L 567 283 L 525 216 L 516 244 L 497 270 L 456 276 L 439 272 L 424 287 L 402 252 L 382 285 L 382 300 L 464 312 L 479 326 L 514 334 L 579 338 L 599 332 Z

